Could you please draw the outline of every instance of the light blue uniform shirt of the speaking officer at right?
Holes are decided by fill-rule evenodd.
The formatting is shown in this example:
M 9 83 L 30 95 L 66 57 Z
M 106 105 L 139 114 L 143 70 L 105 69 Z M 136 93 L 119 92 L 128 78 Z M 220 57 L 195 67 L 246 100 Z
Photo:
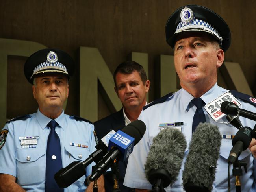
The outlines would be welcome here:
M 204 102 L 210 103 L 215 100 L 217 97 L 221 96 L 223 93 L 228 90 L 223 89 L 217 86 L 217 83 L 203 96 L 201 96 Z M 178 92 L 175 92 L 172 96 L 167 98 L 165 102 L 158 103 L 148 107 L 143 110 L 139 116 L 139 119 L 146 124 L 146 132 L 141 139 L 141 141 L 134 146 L 134 151 L 129 156 L 128 166 L 126 169 L 126 175 L 124 179 L 124 185 L 132 188 L 141 188 L 141 189 L 151 189 L 152 185 L 147 181 L 144 174 L 144 165 L 147 159 L 148 151 L 152 144 L 153 138 L 160 132 L 160 123 L 173 123 L 173 122 L 183 122 L 183 125 L 176 126 L 181 127 L 182 133 L 186 136 L 187 148 L 184 153 L 184 159 L 182 162 L 182 167 L 180 173 L 177 177 L 177 181 L 172 186 L 165 188 L 167 192 L 180 192 L 183 191 L 182 186 L 182 172 L 184 170 L 184 162 L 188 155 L 189 142 L 191 141 L 192 135 L 192 122 L 193 116 L 196 111 L 196 106 L 191 104 L 191 100 L 194 97 L 186 92 L 184 89 L 180 89 Z M 256 108 L 251 105 L 249 102 L 244 102 L 243 100 L 238 99 L 241 103 L 241 108 L 256 112 Z M 150 104 L 149 104 L 150 105 Z M 213 125 L 219 127 L 219 131 L 222 135 L 236 135 L 238 129 L 232 125 L 226 125 L 215 122 L 204 109 L 206 115 L 206 122 L 210 122 Z M 223 117 L 223 121 L 225 117 Z M 243 126 L 254 127 L 255 122 L 247 118 L 240 117 L 241 123 Z M 175 126 L 174 126 L 175 127 Z M 172 127 L 171 127 L 172 128 Z M 222 139 L 221 148 L 220 148 L 220 157 L 217 161 L 217 169 L 215 174 L 215 181 L 213 183 L 214 192 L 226 192 L 228 188 L 228 163 L 227 159 L 232 148 L 232 139 Z M 200 154 L 198 154 L 200 155 Z M 240 177 L 241 181 L 241 191 L 254 191 L 254 165 L 252 154 L 250 150 L 247 149 L 241 153 L 239 159 L 247 162 L 247 173 L 243 169 L 243 176 Z M 235 192 L 235 177 L 232 176 L 232 168 L 230 171 L 231 175 L 231 191 Z

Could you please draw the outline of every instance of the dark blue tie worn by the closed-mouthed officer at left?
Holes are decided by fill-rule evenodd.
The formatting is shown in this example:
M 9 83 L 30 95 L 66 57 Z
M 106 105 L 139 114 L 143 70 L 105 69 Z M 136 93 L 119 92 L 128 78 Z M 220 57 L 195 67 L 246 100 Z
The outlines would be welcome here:
M 55 132 L 55 127 L 58 126 L 58 123 L 52 120 L 47 126 L 50 127 L 51 131 L 47 141 L 45 191 L 63 192 L 63 188 L 59 188 L 54 179 L 54 174 L 62 168 L 60 141 Z

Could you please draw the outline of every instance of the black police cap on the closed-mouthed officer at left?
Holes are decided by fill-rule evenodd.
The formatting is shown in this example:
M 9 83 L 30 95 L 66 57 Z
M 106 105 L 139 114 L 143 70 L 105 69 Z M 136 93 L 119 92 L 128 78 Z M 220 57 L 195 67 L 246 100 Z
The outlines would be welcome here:
M 24 65 L 26 79 L 33 85 L 33 78 L 42 73 L 63 73 L 70 78 L 74 74 L 74 60 L 58 49 L 42 49 L 28 57 Z

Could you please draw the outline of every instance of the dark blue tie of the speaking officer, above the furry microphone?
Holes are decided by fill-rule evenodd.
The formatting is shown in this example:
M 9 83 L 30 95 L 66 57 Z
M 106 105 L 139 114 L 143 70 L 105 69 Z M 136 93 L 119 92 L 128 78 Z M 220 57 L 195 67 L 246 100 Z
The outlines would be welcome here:
M 193 117 L 193 124 L 192 124 L 192 133 L 193 133 L 200 122 L 202 123 L 206 122 L 204 111 L 202 109 L 205 103 L 201 98 L 194 98 L 193 100 L 191 100 L 191 103 L 193 103 L 197 107 L 197 110 Z

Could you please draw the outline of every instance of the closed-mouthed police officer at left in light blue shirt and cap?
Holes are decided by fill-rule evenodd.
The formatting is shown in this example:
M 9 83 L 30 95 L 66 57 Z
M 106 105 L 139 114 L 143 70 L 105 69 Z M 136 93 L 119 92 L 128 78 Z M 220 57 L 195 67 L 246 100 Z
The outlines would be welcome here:
M 0 191 L 92 191 L 85 179 L 93 163 L 68 188 L 59 188 L 54 180 L 59 169 L 84 161 L 96 145 L 93 124 L 63 111 L 73 59 L 61 50 L 39 50 L 27 59 L 24 73 L 39 108 L 9 120 L 0 132 Z M 98 185 L 104 191 L 104 179 Z

